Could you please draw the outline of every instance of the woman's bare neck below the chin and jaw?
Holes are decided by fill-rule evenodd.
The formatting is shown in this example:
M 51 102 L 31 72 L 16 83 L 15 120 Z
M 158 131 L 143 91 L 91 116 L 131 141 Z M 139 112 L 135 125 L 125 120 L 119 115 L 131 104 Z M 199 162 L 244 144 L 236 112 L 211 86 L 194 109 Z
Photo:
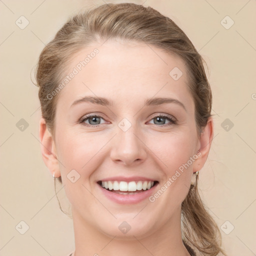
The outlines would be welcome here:
M 189 256 L 182 238 L 180 209 L 151 234 L 139 238 L 130 234 L 123 239 L 100 232 L 72 208 L 75 256 Z

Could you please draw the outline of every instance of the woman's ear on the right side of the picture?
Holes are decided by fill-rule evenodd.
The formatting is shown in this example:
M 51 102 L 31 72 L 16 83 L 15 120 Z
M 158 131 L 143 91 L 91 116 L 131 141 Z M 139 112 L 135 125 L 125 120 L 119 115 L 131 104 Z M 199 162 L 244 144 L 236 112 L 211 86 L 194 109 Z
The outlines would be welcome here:
M 197 153 L 198 157 L 194 161 L 193 172 L 200 170 L 207 157 L 210 150 L 211 141 L 213 139 L 213 120 L 211 117 L 208 118 L 207 124 L 203 128 L 199 137 L 199 153 Z

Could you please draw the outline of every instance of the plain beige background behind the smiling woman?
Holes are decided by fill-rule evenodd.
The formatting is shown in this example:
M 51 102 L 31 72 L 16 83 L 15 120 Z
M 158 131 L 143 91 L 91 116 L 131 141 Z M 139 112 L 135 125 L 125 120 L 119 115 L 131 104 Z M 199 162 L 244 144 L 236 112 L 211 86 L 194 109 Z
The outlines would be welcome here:
M 172 18 L 207 62 L 215 135 L 208 160 L 199 174 L 199 187 L 218 226 L 229 221 L 221 229 L 228 255 L 254 255 L 256 1 L 132 2 L 150 5 Z M 33 75 L 44 44 L 71 13 L 103 3 L 0 0 L 0 255 L 65 256 L 74 249 L 72 220 L 58 207 L 52 176 L 41 157 L 38 88 L 30 81 L 30 72 Z M 15 24 L 21 15 L 29 21 L 24 29 Z M 221 24 L 226 15 L 234 21 L 229 29 Z M 231 24 L 228 18 L 222 22 L 225 26 Z M 28 123 L 23 131 L 16 126 L 21 118 Z M 226 118 L 233 127 L 222 124 Z M 63 209 L 68 211 L 64 189 L 60 185 L 56 189 L 60 190 Z M 24 234 L 19 232 L 24 223 L 21 222 L 22 228 L 15 228 L 20 227 L 21 220 L 29 226 Z

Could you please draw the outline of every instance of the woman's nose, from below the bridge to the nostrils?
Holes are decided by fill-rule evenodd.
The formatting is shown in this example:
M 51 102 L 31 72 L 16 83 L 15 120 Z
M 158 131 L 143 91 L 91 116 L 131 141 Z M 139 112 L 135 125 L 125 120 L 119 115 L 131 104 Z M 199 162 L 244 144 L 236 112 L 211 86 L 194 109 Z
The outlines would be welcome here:
M 110 153 L 113 161 L 132 165 L 145 160 L 146 145 L 143 143 L 143 136 L 134 126 L 131 125 L 126 131 L 117 127 L 117 134 L 113 138 Z

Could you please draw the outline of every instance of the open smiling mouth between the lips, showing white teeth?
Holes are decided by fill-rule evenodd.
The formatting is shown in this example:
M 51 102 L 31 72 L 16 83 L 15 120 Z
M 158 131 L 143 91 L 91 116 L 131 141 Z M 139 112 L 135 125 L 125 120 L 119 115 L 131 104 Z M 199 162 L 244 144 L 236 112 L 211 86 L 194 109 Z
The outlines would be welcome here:
M 134 181 L 117 181 L 117 180 L 99 180 L 97 182 L 103 189 L 118 194 L 137 194 L 150 190 L 158 184 L 157 180 L 134 180 Z

